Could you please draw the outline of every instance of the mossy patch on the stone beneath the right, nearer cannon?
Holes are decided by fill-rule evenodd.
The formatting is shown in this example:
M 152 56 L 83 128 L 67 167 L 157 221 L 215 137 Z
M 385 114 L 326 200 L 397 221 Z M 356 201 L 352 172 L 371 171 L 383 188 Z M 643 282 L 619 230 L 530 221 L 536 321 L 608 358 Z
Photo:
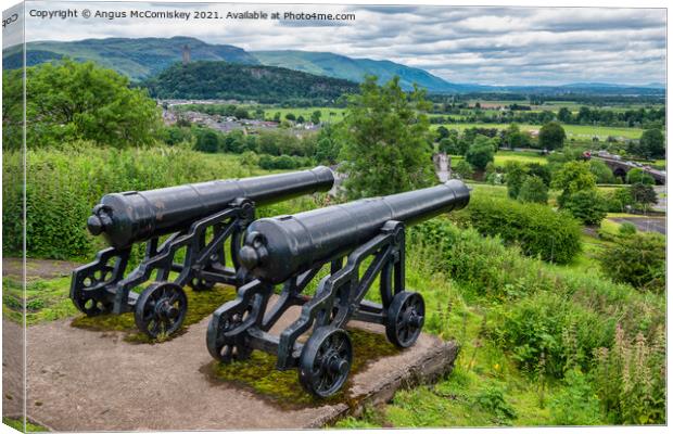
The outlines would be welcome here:
M 397 354 L 399 349 L 388 342 L 384 335 L 359 329 L 350 329 L 353 342 L 353 367 L 348 382 L 328 399 L 317 399 L 306 393 L 299 382 L 296 369 L 276 369 L 276 355 L 254 350 L 250 359 L 229 365 L 211 363 L 214 381 L 227 381 L 250 388 L 281 408 L 302 408 L 325 404 L 348 403 L 351 379 L 370 362 L 381 357 Z

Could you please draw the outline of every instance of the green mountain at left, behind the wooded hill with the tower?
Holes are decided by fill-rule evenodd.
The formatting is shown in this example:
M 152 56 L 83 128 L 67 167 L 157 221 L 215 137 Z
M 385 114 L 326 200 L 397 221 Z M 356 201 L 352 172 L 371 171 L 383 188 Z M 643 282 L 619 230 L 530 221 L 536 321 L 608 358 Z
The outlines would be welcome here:
M 128 76 L 141 80 L 155 75 L 182 59 L 182 47 L 189 46 L 192 61 L 226 61 L 256 65 L 259 62 L 245 50 L 233 46 L 209 44 L 195 38 L 107 38 L 85 39 L 72 42 L 28 42 L 26 60 L 28 66 L 69 56 L 77 61 L 94 61 Z M 3 50 L 5 68 L 22 65 L 21 47 Z

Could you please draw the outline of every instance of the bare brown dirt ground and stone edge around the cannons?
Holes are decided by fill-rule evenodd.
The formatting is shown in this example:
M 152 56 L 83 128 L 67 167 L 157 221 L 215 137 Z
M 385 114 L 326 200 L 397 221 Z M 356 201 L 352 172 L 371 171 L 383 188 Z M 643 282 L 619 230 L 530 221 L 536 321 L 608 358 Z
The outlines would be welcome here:
M 153 345 L 128 343 L 123 333 L 74 328 L 72 319 L 29 327 L 28 417 L 55 431 L 182 431 L 320 427 L 350 411 L 345 403 L 288 410 L 251 390 L 213 379 L 204 342 L 208 320 Z M 21 399 L 14 398 L 21 396 L 21 373 L 7 369 L 21 362 L 21 326 L 2 324 L 3 405 L 10 416 L 10 410 L 21 411 Z M 351 397 L 363 403 L 365 397 L 389 399 L 394 390 L 424 373 L 450 369 L 456 355 L 453 343 L 423 334 L 414 347 L 358 372 Z

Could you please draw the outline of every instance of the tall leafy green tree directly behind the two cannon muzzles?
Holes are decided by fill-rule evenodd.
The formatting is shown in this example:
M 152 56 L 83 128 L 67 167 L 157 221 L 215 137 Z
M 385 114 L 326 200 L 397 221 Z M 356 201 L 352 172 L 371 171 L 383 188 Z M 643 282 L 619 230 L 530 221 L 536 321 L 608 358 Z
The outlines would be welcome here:
M 430 186 L 434 180 L 432 133 L 426 92 L 405 92 L 399 77 L 383 86 L 376 76 L 347 98 L 338 133 L 348 197 L 391 194 Z

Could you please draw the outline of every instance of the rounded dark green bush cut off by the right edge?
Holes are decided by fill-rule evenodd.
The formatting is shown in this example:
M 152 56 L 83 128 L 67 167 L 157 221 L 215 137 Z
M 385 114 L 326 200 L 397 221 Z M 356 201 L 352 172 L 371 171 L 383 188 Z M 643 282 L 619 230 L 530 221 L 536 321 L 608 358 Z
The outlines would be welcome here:
M 638 290 L 663 292 L 665 288 L 665 239 L 658 233 L 623 238 L 598 256 L 606 275 Z

